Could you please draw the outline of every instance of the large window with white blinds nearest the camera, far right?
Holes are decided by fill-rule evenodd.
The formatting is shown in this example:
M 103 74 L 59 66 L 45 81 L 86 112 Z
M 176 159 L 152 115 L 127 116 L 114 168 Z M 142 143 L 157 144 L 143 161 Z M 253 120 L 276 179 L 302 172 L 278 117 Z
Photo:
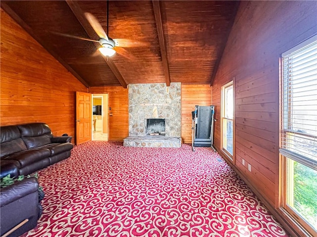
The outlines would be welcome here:
M 317 36 L 282 54 L 282 205 L 317 235 Z

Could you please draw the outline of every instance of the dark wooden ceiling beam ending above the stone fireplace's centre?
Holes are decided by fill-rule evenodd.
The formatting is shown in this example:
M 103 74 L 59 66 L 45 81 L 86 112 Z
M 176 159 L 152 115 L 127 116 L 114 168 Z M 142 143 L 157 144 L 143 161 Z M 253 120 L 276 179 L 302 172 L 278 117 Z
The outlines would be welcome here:
M 159 48 L 160 48 L 160 54 L 162 57 L 162 64 L 163 64 L 163 70 L 165 74 L 166 86 L 169 86 L 170 85 L 169 68 L 168 68 L 168 61 L 166 56 L 166 47 L 165 47 L 165 40 L 164 40 L 164 33 L 163 33 L 162 18 L 161 18 L 160 7 L 159 7 L 159 0 L 152 0 L 152 2 L 153 2 L 155 22 L 158 28 Z

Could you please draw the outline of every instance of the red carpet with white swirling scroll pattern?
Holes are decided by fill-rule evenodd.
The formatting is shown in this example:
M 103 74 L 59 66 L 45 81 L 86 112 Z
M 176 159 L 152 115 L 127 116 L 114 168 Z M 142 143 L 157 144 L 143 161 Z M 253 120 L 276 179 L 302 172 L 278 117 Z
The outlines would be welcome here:
M 286 237 L 210 148 L 89 142 L 39 171 L 46 197 L 24 237 Z

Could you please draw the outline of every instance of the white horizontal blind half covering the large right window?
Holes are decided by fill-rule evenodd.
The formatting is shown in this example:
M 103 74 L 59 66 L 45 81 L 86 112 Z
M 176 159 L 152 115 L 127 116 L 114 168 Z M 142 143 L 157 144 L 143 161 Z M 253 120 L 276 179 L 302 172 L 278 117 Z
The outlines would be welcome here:
M 317 170 L 316 37 L 282 54 L 281 118 L 280 153 Z

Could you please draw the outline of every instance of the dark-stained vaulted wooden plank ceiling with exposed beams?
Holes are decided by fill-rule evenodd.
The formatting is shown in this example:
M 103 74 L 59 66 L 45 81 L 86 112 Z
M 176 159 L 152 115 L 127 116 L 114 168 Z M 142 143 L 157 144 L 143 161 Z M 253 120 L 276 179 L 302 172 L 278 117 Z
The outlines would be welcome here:
M 90 86 L 130 83 L 212 84 L 239 1 L 109 1 L 110 58 L 85 18 L 107 26 L 107 1 L 1 0 L 1 8 L 69 72 Z M 107 32 L 107 31 L 106 31 Z

